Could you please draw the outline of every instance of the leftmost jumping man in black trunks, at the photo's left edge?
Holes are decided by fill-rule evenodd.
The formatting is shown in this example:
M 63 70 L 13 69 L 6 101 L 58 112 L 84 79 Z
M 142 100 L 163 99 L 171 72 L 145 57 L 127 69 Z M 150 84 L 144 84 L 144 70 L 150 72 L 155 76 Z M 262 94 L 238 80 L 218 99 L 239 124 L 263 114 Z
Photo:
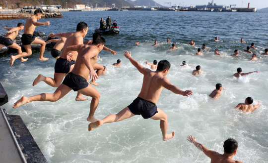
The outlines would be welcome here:
M 13 40 L 18 36 L 18 31 L 22 31 L 24 28 L 24 25 L 22 23 L 18 23 L 17 27 L 13 27 L 13 28 L 8 28 L 8 27 L 3 27 L 4 29 L 6 29 L 8 32 L 7 34 L 5 34 L 5 36 L 3 38 L 0 39 L 0 49 L 2 47 L 8 46 L 14 49 L 18 50 L 18 54 L 21 54 L 21 47 L 16 44 L 15 42 L 13 42 Z M 12 66 L 14 63 L 14 60 L 17 59 L 16 56 L 11 55 L 10 57 L 10 65 Z M 21 62 L 25 62 L 27 61 L 28 58 L 24 59 L 24 58 L 20 58 Z

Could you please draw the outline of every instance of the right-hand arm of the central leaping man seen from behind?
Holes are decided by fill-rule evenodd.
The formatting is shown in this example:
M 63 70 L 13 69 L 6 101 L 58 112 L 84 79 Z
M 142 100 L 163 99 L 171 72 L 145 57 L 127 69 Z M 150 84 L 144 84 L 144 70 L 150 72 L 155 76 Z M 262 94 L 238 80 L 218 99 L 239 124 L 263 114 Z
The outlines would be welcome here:
M 192 90 L 183 91 L 180 88 L 178 88 L 177 86 L 173 85 L 172 83 L 169 82 L 168 78 L 166 78 L 166 77 L 164 77 L 161 82 L 162 82 L 161 84 L 163 85 L 164 88 L 172 91 L 173 93 L 181 94 L 181 95 L 187 96 L 187 97 L 193 94 Z

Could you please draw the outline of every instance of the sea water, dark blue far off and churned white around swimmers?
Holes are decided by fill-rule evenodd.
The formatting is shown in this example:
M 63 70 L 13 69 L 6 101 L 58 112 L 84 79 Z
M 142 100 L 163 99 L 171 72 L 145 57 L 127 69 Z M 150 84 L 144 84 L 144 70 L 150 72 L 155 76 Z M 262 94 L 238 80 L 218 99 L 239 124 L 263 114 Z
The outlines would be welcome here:
M 134 116 L 122 122 L 104 124 L 88 131 L 90 100 L 75 101 L 76 92 L 70 91 L 61 100 L 52 102 L 31 102 L 13 109 L 13 103 L 22 96 L 39 93 L 53 93 L 56 88 L 40 82 L 32 86 L 39 75 L 54 76 L 56 60 L 51 48 L 46 48 L 47 61 L 39 61 L 38 52 L 29 56 L 27 62 L 19 59 L 11 67 L 10 55 L 0 54 L 0 82 L 5 88 L 9 102 L 2 106 L 12 115 L 20 115 L 49 163 L 209 163 L 210 159 L 186 140 L 193 135 L 208 149 L 223 153 L 223 142 L 227 138 L 238 141 L 235 160 L 244 163 L 264 163 L 268 160 L 268 57 L 260 56 L 268 48 L 268 12 L 165 12 L 165 11 L 99 11 L 64 12 L 63 18 L 41 19 L 50 21 L 50 26 L 36 30 L 49 33 L 75 31 L 79 21 L 89 25 L 85 40 L 90 40 L 101 17 L 111 16 L 121 30 L 118 35 L 104 35 L 106 46 L 117 51 L 101 51 L 97 63 L 108 70 L 100 76 L 94 86 L 101 94 L 97 119 L 116 114 L 137 97 L 143 76 L 124 57 L 131 51 L 132 57 L 142 66 L 166 59 L 171 68 L 166 76 L 170 82 L 183 90 L 192 90 L 193 95 L 184 97 L 163 89 L 157 103 L 168 116 L 168 133 L 175 131 L 175 137 L 162 141 L 159 121 L 144 120 Z M 0 20 L 1 26 L 14 27 L 25 19 Z M 4 33 L 0 29 L 0 33 Z M 220 41 L 214 42 L 218 37 Z M 169 51 L 171 43 L 177 50 Z M 244 38 L 246 43 L 241 43 Z M 189 45 L 190 40 L 196 42 Z M 140 41 L 135 46 L 134 42 Z M 151 46 L 158 41 L 159 47 Z M 251 42 L 255 43 L 258 61 L 248 61 L 251 54 L 242 52 Z M 210 51 L 202 50 L 203 56 L 196 56 L 202 43 Z M 222 56 L 213 55 L 218 48 Z M 231 57 L 238 49 L 243 57 Z M 112 66 L 121 59 L 120 68 Z M 187 61 L 189 67 L 180 65 Z M 203 72 L 192 76 L 197 65 Z M 244 73 L 259 71 L 239 80 L 232 75 L 241 67 Z M 217 100 L 208 97 L 215 84 L 221 83 L 222 90 Z M 251 96 L 254 105 L 262 105 L 252 113 L 243 113 L 234 107 Z

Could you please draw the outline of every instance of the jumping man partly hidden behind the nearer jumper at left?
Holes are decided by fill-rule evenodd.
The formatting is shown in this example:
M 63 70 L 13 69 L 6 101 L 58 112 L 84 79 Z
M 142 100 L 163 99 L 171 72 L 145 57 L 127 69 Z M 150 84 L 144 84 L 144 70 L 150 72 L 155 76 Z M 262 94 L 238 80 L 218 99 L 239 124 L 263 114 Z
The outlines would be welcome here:
M 66 74 L 72 71 L 75 60 L 77 58 L 77 51 L 70 51 L 72 54 L 71 58 L 67 60 L 67 46 L 71 45 L 78 45 L 83 44 L 83 38 L 87 34 L 87 24 L 84 22 L 80 22 L 77 24 L 76 32 L 66 32 L 66 33 L 59 33 L 59 34 L 49 34 L 50 37 L 65 37 L 67 38 L 62 54 L 60 55 L 60 58 L 57 59 L 55 63 L 55 73 L 54 73 L 54 79 L 49 77 L 44 77 L 43 75 L 39 74 L 38 77 L 34 80 L 33 86 L 38 84 L 39 82 L 46 82 L 48 85 L 53 87 L 58 87 L 62 83 L 64 77 Z M 77 93 L 77 96 L 75 98 L 76 101 L 84 101 L 88 100 L 88 98 L 82 97 L 82 94 L 79 92 Z

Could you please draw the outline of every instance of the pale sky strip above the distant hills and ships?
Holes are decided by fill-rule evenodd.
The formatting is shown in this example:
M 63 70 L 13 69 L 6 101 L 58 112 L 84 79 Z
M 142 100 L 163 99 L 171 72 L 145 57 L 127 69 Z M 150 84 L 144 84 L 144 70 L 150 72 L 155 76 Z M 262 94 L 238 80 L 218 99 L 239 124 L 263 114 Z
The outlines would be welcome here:
M 190 6 L 191 4 L 196 5 L 203 5 L 207 4 L 207 2 L 211 2 L 211 0 L 154 0 L 157 3 L 161 5 L 169 6 L 169 4 L 164 4 L 164 2 L 171 2 L 172 5 L 176 3 L 176 5 L 183 6 Z M 268 0 L 214 0 L 214 3 L 218 5 L 230 5 L 230 4 L 236 4 L 237 7 L 242 7 L 242 1 L 243 1 L 243 7 L 248 7 L 248 3 L 250 3 L 250 7 L 257 7 L 257 8 L 266 8 L 268 7 Z

